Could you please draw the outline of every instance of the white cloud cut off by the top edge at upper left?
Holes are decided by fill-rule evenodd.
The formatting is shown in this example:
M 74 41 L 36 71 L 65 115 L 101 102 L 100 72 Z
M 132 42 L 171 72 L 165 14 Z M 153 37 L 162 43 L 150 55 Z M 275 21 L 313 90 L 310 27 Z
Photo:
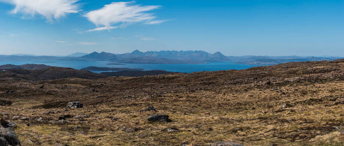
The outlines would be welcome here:
M 70 13 L 78 13 L 78 0 L 0 0 L 15 5 L 11 11 L 13 14 L 21 13 L 23 18 L 42 15 L 48 21 L 65 17 Z

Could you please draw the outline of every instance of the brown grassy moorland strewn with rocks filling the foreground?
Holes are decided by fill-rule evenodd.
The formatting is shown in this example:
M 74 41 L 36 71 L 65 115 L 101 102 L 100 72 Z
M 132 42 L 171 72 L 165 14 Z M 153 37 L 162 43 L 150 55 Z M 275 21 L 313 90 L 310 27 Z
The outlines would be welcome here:
M 100 79 L 0 72 L 0 111 L 22 146 L 343 146 L 344 59 Z

